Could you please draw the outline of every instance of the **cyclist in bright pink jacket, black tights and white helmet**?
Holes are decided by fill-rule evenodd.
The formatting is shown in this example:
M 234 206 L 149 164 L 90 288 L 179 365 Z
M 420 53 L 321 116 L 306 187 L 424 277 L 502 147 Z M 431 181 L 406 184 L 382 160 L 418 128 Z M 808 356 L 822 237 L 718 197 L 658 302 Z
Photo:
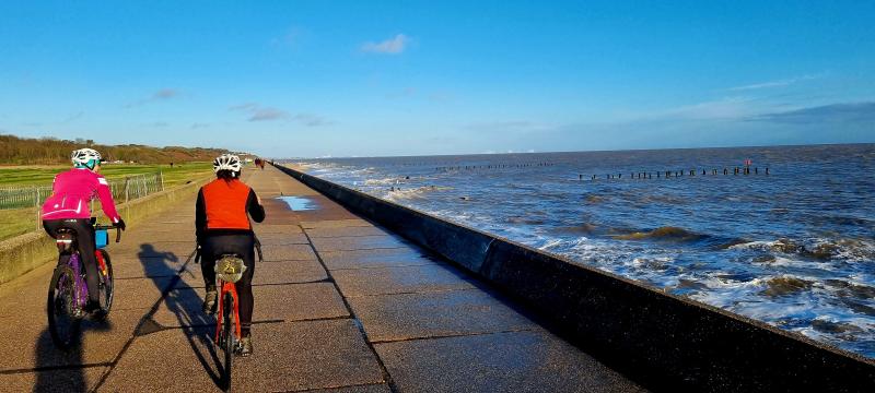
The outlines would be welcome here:
M 55 176 L 51 195 L 43 204 L 43 227 L 51 237 L 60 228 L 75 231 L 82 264 L 85 266 L 85 279 L 89 287 L 89 302 L 85 311 L 100 310 L 97 286 L 96 246 L 94 227 L 91 224 L 91 200 L 101 200 L 101 207 L 113 224 L 125 230 L 125 221 L 118 215 L 109 182 L 98 175 L 101 154 L 91 148 L 73 151 L 71 155 L 73 168 Z M 63 261 L 66 262 L 66 261 Z

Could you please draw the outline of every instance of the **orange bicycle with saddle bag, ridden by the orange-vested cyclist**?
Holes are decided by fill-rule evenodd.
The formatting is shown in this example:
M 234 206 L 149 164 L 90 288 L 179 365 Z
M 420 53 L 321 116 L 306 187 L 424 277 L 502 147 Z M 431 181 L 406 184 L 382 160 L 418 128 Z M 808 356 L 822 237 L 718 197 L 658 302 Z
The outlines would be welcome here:
M 215 261 L 215 281 L 219 291 L 219 311 L 215 321 L 215 345 L 224 352 L 222 384 L 231 390 L 231 365 L 234 355 L 243 347 L 240 329 L 240 301 L 235 283 L 243 278 L 246 265 L 238 254 L 222 254 Z

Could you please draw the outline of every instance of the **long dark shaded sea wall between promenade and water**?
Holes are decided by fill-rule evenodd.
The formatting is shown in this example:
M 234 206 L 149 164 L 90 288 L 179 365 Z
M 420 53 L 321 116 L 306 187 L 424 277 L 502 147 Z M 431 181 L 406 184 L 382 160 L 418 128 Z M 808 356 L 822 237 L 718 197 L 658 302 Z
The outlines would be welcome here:
M 490 283 L 661 391 L 875 391 L 875 361 L 301 171 L 288 175 Z

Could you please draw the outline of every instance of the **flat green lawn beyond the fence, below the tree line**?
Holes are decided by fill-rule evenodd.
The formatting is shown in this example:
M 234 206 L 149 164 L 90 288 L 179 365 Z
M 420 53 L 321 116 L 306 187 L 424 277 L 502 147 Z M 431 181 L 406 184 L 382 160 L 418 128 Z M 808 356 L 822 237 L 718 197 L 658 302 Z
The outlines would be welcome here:
M 49 186 L 55 175 L 68 170 L 69 166 L 0 166 L 0 187 Z M 105 164 L 101 174 L 107 179 L 120 179 L 126 176 L 164 174 L 164 187 L 171 188 L 208 176 L 212 172 L 212 163 L 186 163 L 170 165 L 141 164 Z

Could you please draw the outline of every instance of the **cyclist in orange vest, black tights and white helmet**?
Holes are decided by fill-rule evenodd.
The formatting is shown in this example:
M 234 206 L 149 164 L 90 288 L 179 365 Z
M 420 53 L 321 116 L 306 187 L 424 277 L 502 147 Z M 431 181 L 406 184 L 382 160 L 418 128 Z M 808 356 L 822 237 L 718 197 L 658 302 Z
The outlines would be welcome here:
M 265 219 L 265 207 L 255 191 L 240 180 L 240 157 L 224 154 L 212 163 L 217 179 L 200 188 L 195 214 L 195 228 L 200 247 L 203 282 L 207 294 L 203 311 L 215 312 L 215 259 L 225 253 L 243 258 L 246 271 L 235 286 L 240 296 L 241 356 L 253 353 L 249 327 L 253 320 L 252 279 L 255 272 L 255 233 L 249 216 L 256 223 Z

